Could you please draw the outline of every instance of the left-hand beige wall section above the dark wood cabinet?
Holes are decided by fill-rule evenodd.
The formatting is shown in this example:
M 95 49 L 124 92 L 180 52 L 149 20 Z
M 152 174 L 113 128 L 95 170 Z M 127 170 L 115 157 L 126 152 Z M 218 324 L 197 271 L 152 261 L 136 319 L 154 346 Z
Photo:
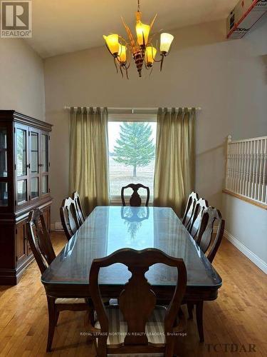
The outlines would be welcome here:
M 0 39 L 0 109 L 45 119 L 43 60 L 22 39 Z

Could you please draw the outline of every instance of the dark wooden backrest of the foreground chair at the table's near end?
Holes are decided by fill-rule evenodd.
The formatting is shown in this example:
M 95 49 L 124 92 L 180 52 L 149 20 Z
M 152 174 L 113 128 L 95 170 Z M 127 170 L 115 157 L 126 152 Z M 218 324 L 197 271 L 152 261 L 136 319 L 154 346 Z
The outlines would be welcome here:
M 167 344 L 170 343 L 168 336 L 173 335 L 177 313 L 187 286 L 187 270 L 184 261 L 181 258 L 167 256 L 167 254 L 156 248 L 147 248 L 142 251 L 122 248 L 110 254 L 110 256 L 93 260 L 89 276 L 90 296 L 93 299 L 95 311 L 100 323 L 98 347 L 101 349 L 103 356 L 105 356 L 104 353 L 107 352 L 108 316 L 100 295 L 98 274 L 100 268 L 110 266 L 114 263 L 124 264 L 130 273 L 132 273 L 130 280 L 123 286 L 118 298 L 119 308 L 124 321 L 127 323 L 128 332 L 125 336 L 122 348 L 128 347 L 128 351 L 132 353 L 141 353 L 144 351 L 144 348 L 149 346 L 145 334 L 145 325 L 157 303 L 155 292 L 152 286 L 150 286 L 150 283 L 148 283 L 147 278 L 145 278 L 145 273 L 150 266 L 156 263 L 163 263 L 167 266 L 177 268 L 177 286 L 164 318 L 164 333 L 166 336 L 165 348 L 167 348 Z M 150 343 L 150 347 L 152 348 L 151 345 L 152 343 Z M 110 347 L 110 345 L 108 345 L 108 347 Z M 119 354 L 120 348 L 121 346 L 116 348 L 113 353 Z M 141 350 L 141 348 L 143 348 L 143 350 Z M 156 353 L 156 348 L 158 348 L 157 344 L 155 344 L 153 348 L 155 348 L 155 351 L 153 351 Z M 150 352 L 152 352 L 152 350 L 150 350 Z

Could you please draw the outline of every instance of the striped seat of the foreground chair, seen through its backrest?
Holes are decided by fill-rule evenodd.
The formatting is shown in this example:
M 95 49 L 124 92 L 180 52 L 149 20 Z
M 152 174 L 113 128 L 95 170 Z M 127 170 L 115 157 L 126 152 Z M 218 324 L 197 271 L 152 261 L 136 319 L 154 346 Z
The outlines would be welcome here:
M 123 320 L 122 313 L 118 306 L 109 306 L 106 308 L 108 313 L 109 325 L 109 336 L 108 345 L 123 343 L 126 333 L 127 333 L 127 323 Z M 152 316 L 147 321 L 145 326 L 145 332 L 147 333 L 147 339 L 150 343 L 165 343 L 164 336 L 164 317 L 166 313 L 166 308 L 163 306 L 156 306 Z M 96 321 L 95 328 L 100 328 L 99 321 Z M 130 356 L 135 356 L 135 354 Z M 161 356 L 161 354 L 157 355 Z M 125 356 L 125 355 L 123 355 Z M 147 356 L 147 354 L 144 354 Z M 154 356 L 154 355 L 153 355 Z M 155 354 L 156 356 L 156 354 Z

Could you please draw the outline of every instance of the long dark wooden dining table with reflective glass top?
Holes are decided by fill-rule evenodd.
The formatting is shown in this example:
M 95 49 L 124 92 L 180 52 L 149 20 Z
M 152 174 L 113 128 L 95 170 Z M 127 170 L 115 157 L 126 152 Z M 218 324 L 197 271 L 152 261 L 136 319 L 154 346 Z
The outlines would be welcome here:
M 174 213 L 167 207 L 97 206 L 42 274 L 46 293 L 53 297 L 90 297 L 89 271 L 95 258 L 120 248 L 158 248 L 184 259 L 187 291 L 184 301 L 216 299 L 221 277 Z M 172 298 L 177 282 L 174 268 L 155 264 L 146 276 L 157 298 Z M 105 298 L 117 298 L 129 280 L 122 264 L 102 268 L 100 290 Z

